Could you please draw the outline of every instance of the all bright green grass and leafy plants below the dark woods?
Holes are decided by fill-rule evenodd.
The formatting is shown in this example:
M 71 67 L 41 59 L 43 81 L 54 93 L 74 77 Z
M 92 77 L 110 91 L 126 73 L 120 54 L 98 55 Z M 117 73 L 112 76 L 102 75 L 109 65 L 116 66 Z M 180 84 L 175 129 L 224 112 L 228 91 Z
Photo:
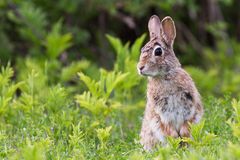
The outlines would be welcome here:
M 192 126 L 193 139 L 183 139 L 189 147 L 168 138 L 166 147 L 142 149 L 146 79 L 137 75 L 136 59 L 144 38 L 130 48 L 108 35 L 117 54 L 112 71 L 86 60 L 64 66 L 54 56 L 2 66 L 0 159 L 239 159 L 240 101 L 209 96 L 207 81 L 199 87 L 204 118 Z M 196 84 L 211 80 L 191 73 Z

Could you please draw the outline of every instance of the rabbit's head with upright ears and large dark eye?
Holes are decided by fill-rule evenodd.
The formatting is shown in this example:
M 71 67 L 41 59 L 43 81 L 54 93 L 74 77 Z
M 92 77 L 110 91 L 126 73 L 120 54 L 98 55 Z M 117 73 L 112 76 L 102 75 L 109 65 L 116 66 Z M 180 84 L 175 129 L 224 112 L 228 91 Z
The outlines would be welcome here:
M 150 77 L 163 76 L 180 67 L 173 52 L 176 29 L 172 18 L 168 16 L 160 21 L 158 16 L 153 15 L 148 22 L 148 30 L 150 41 L 141 49 L 137 65 L 139 74 Z

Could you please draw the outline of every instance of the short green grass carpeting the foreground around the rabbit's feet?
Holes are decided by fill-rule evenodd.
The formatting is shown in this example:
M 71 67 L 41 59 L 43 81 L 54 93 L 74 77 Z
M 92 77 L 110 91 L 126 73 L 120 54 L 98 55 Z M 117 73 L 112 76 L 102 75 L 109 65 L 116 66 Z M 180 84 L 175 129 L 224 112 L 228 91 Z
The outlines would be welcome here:
M 231 126 L 240 115 L 230 97 L 203 99 L 204 120 L 192 126 L 194 140 L 187 140 L 188 148 L 179 148 L 179 139 L 170 138 L 167 147 L 147 153 L 139 144 L 144 103 L 95 113 L 81 107 L 67 87 L 40 89 L 34 72 L 18 83 L 10 81 L 12 76 L 10 67 L 2 69 L 1 159 L 229 159 L 234 155 L 230 142 L 239 144 Z M 229 123 L 231 118 L 235 120 Z

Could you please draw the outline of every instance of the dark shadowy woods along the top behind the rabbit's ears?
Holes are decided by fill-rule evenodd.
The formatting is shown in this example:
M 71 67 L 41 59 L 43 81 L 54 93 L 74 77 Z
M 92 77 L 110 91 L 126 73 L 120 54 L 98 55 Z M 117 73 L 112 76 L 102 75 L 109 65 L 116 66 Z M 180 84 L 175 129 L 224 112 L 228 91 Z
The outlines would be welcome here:
M 226 45 L 226 55 L 234 54 L 231 41 L 240 40 L 239 8 L 238 0 L 1 0 L 0 58 L 15 63 L 18 57 L 44 56 L 46 36 L 58 23 L 72 38 L 59 56 L 62 61 L 87 58 L 109 68 L 114 55 L 105 35 L 133 42 L 147 33 L 149 17 L 157 14 L 174 19 L 175 52 L 182 63 L 204 67 L 204 48 L 216 50 L 219 41 Z

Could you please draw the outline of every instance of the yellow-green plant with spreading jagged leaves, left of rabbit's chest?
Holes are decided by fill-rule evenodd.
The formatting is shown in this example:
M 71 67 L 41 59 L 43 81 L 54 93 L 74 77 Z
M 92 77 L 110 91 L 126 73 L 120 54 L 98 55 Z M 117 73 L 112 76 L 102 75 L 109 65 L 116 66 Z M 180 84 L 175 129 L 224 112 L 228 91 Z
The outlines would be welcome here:
M 92 113 L 107 114 L 109 109 L 119 107 L 119 103 L 109 97 L 118 85 L 126 81 L 127 76 L 128 73 L 107 72 L 102 69 L 100 70 L 100 80 L 95 81 L 83 73 L 79 73 L 80 79 L 86 84 L 89 91 L 77 95 L 76 101 Z

